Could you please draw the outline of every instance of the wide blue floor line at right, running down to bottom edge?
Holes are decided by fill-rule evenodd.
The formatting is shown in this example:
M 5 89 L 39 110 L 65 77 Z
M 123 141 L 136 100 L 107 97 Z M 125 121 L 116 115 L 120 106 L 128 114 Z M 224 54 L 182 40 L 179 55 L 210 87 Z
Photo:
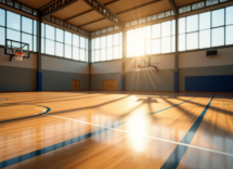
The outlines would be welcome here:
M 195 135 L 200 122 L 203 121 L 204 116 L 206 115 L 206 112 L 208 110 L 212 99 L 215 98 L 215 94 L 212 95 L 209 103 L 206 105 L 203 113 L 199 115 L 199 117 L 196 119 L 196 121 L 193 123 L 193 126 L 190 128 L 187 133 L 184 135 L 184 138 L 181 140 L 181 143 L 190 144 L 193 140 L 193 136 Z M 174 151 L 171 153 L 169 158 L 165 161 L 165 164 L 161 166 L 160 169 L 176 169 L 178 165 L 180 164 L 181 159 L 183 158 L 184 153 L 186 152 L 187 146 L 184 145 L 178 145 Z

